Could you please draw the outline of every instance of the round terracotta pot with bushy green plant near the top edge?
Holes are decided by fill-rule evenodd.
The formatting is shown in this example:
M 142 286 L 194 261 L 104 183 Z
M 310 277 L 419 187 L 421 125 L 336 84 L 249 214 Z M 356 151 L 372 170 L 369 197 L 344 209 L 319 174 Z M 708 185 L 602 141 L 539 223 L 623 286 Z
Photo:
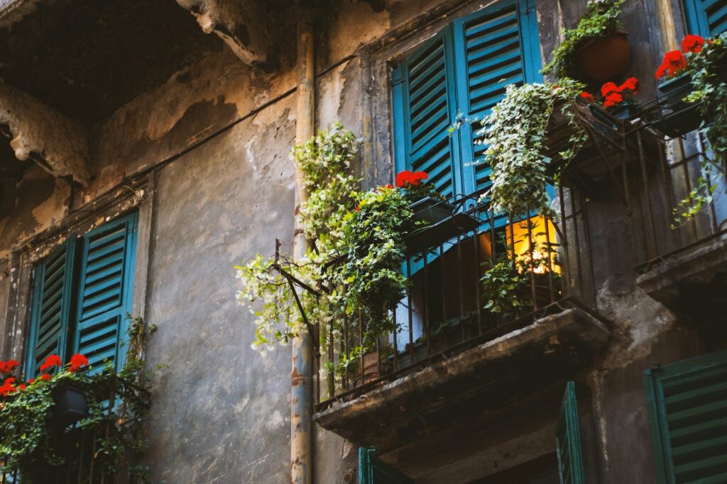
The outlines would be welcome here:
M 630 62 L 627 32 L 619 22 L 625 0 L 590 0 L 576 28 L 565 30 L 544 74 L 557 78 L 588 78 L 603 83 L 626 73 Z

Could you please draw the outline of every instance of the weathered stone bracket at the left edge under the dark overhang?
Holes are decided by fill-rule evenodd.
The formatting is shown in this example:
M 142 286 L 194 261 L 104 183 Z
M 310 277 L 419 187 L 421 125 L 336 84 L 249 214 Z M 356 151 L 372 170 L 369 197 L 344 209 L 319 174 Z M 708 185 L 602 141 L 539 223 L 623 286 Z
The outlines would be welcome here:
M 88 142 L 78 121 L 0 82 L 0 126 L 18 160 L 31 159 L 53 176 L 88 183 Z

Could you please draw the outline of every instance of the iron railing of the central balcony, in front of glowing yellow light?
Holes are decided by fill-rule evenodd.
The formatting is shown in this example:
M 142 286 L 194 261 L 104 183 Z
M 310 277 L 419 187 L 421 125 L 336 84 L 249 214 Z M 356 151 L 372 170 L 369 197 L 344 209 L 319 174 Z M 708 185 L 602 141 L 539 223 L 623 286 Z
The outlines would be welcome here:
M 417 246 L 426 231 L 435 239 L 403 263 L 410 283 L 406 298 L 391 315 L 396 329 L 380 337 L 375 350 L 342 371 L 340 362 L 361 343 L 366 321 L 355 316 L 342 324 L 340 335 L 328 335 L 335 345 L 317 358 L 318 369 L 324 369 L 316 385 L 318 411 L 566 308 L 603 319 L 595 311 L 588 204 L 582 194 L 558 188 L 555 219 L 534 214 L 507 219 L 480 197 L 448 201 L 455 206 L 447 222 L 454 231 L 450 237 L 437 234 L 441 223 L 418 235 Z M 498 263 L 505 277 L 518 282 L 494 311 L 488 299 L 493 286 L 481 279 Z

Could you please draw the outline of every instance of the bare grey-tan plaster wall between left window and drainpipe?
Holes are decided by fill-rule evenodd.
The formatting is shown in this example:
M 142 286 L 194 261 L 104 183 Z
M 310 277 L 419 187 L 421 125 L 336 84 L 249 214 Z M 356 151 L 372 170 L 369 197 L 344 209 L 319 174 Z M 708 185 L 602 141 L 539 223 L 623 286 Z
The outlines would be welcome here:
M 294 100 L 240 123 L 158 173 L 148 364 L 148 462 L 169 483 L 284 482 L 290 351 L 250 348 L 252 315 L 232 267 L 292 243 Z

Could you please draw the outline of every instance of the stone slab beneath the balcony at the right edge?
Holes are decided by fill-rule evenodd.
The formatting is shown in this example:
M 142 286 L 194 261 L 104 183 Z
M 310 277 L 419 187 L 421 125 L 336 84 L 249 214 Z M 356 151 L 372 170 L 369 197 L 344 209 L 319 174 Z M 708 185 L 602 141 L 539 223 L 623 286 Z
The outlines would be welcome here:
M 727 240 L 715 239 L 657 263 L 637 282 L 651 298 L 695 324 L 723 322 L 727 311 Z

